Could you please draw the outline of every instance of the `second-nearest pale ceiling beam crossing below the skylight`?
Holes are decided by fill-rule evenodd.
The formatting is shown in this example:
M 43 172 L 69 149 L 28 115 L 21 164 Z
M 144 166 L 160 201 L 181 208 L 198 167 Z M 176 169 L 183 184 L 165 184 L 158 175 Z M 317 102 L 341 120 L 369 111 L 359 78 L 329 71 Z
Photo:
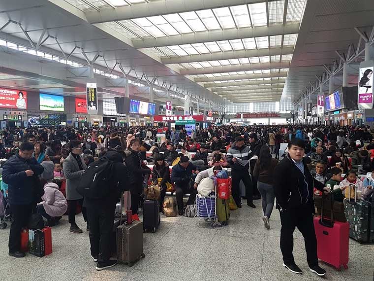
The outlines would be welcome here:
M 155 48 L 163 46 L 174 46 L 183 44 L 234 40 L 271 35 L 285 35 L 295 33 L 299 33 L 299 24 L 201 31 L 183 35 L 172 35 L 168 37 L 165 36 L 158 38 L 147 38 L 143 40 L 133 40 L 132 44 L 134 48 Z

